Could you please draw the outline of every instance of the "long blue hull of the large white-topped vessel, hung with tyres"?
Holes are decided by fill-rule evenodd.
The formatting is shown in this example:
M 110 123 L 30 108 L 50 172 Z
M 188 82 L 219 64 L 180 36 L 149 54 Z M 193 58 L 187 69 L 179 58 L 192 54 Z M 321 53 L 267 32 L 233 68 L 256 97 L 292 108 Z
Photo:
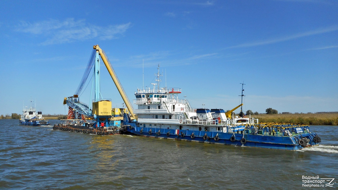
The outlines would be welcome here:
M 258 148 L 280 149 L 280 150 L 301 150 L 304 149 L 304 147 L 298 144 L 298 140 L 300 138 L 307 137 L 308 139 L 310 139 L 310 141 L 307 143 L 306 147 L 318 145 L 318 143 L 315 143 L 313 140 L 314 136 L 316 136 L 316 133 L 302 133 L 294 136 L 272 136 L 259 134 L 179 130 L 179 134 L 175 134 L 175 132 L 177 132 L 177 130 L 175 129 L 137 127 L 135 123 L 126 123 L 125 125 L 132 126 L 130 128 L 128 127 L 126 131 L 140 136 L 207 142 L 212 144 L 258 147 Z M 193 137 L 192 134 L 194 134 Z M 232 138 L 232 136 L 235 136 L 235 138 Z M 245 140 L 241 140 L 242 138 L 244 138 Z

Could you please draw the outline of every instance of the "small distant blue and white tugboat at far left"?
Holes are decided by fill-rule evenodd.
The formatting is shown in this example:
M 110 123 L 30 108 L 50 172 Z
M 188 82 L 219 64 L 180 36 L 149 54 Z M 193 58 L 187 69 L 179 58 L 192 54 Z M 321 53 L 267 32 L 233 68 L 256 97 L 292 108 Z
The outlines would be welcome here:
M 30 103 L 32 103 L 32 101 L 30 101 Z M 42 112 L 36 113 L 35 107 L 32 107 L 32 105 L 29 108 L 24 107 L 22 109 L 22 112 L 23 114 L 21 115 L 21 119 L 19 120 L 19 123 L 21 125 L 49 125 L 49 121 L 42 117 Z

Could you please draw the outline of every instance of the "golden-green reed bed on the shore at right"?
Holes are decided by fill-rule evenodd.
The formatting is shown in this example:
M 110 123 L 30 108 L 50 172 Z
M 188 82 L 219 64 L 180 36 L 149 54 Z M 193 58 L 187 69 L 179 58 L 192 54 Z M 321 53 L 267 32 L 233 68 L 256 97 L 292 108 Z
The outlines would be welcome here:
M 338 125 L 338 114 L 260 114 L 251 115 L 259 122 L 302 125 Z

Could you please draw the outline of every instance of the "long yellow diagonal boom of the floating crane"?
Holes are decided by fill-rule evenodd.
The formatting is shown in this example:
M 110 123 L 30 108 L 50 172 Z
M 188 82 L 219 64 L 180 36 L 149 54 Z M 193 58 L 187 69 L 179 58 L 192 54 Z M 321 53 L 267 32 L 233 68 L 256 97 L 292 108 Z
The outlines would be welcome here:
M 112 70 L 112 66 L 111 64 L 109 63 L 109 60 L 107 58 L 107 56 L 105 55 L 104 51 L 99 47 L 99 45 L 94 45 L 93 46 L 93 49 L 96 50 L 96 51 L 99 51 L 99 54 L 101 56 L 101 59 L 104 63 L 104 65 L 106 66 L 110 76 L 112 77 L 113 81 L 114 81 L 114 84 L 117 88 L 117 90 L 119 91 L 124 103 L 126 104 L 128 110 L 129 110 L 129 113 L 131 115 L 132 118 L 135 118 L 135 115 L 134 115 L 134 110 L 132 108 L 132 105 L 127 97 L 127 95 L 125 94 L 125 91 L 123 90 L 123 87 L 121 86 L 115 72 Z

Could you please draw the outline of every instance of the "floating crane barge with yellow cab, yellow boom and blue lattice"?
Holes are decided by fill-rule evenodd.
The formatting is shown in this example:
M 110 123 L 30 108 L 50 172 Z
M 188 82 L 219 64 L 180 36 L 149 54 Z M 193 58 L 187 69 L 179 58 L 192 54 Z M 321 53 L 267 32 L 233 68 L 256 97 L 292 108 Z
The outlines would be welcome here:
M 123 130 L 121 127 L 121 120 L 123 114 L 129 114 L 132 119 L 135 119 L 133 108 L 131 103 L 118 80 L 116 73 L 110 64 L 106 54 L 99 47 L 99 45 L 93 46 L 93 52 L 88 62 L 87 69 L 83 74 L 80 85 L 78 86 L 75 94 L 70 97 L 64 98 L 64 105 L 69 106 L 68 117 L 66 120 L 61 120 L 61 124 L 55 124 L 53 129 L 74 131 L 90 134 L 109 135 L 120 134 Z M 104 99 L 100 92 L 100 57 L 106 66 L 109 74 L 111 75 L 127 109 L 113 108 L 112 100 Z M 86 84 L 88 75 L 94 66 L 94 77 L 92 81 L 92 92 L 94 88 L 94 99 L 91 103 L 86 104 L 81 102 L 79 94 L 81 94 L 84 84 Z M 92 98 L 90 98 L 92 99 Z M 91 105 L 91 106 L 90 106 Z M 114 110 L 114 111 L 113 111 Z

